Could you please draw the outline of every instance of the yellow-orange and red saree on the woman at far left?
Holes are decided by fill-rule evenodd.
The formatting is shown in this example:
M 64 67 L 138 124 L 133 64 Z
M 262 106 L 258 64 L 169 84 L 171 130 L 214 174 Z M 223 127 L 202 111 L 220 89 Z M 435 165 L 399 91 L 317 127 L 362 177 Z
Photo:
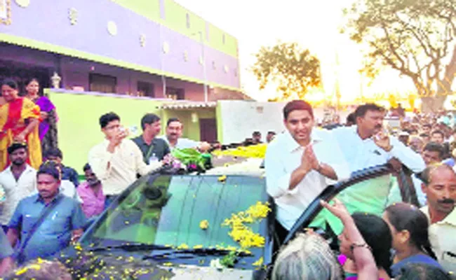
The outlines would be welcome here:
M 0 106 L 0 170 L 9 165 L 8 146 L 13 144 L 13 138 L 27 127 L 27 120 L 40 118 L 39 106 L 27 98 L 18 97 L 13 102 Z M 29 147 L 27 163 L 34 169 L 41 165 L 41 144 L 38 133 L 39 125 L 27 134 L 25 141 Z

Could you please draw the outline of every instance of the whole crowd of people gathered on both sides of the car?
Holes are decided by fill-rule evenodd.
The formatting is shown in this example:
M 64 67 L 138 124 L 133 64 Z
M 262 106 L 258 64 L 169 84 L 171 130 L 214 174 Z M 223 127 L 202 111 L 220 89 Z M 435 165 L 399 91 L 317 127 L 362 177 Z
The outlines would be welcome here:
M 121 117 L 105 113 L 99 119 L 104 139 L 90 149 L 81 168 L 86 181 L 79 182 L 79 172 L 63 163 L 58 148 L 55 106 L 38 94 L 38 80 L 25 89 L 21 96 L 13 80 L 1 83 L 0 275 L 77 241 L 139 176 L 172 164 L 173 149 L 214 148 L 182 138 L 178 118 L 167 120 L 159 136 L 161 119 L 147 113 L 138 120 L 142 134 L 130 139 Z M 408 275 L 424 274 L 448 279 L 455 269 L 455 122 L 447 113 L 405 116 L 401 111 L 400 125 L 394 127 L 384 125 L 387 113 L 365 104 L 344 125 L 318 127 L 307 102 L 283 108 L 286 130 L 267 133 L 264 161 L 279 241 L 330 183 L 368 167 L 389 162 L 409 169 L 417 203 L 401 202 L 394 181 L 347 188 L 335 204 L 321 202 L 326 211 L 311 225 L 329 227 L 339 236 L 340 255 L 316 233 L 299 234 L 281 249 L 273 279 L 416 279 Z M 242 145 L 256 144 L 262 144 L 257 131 Z

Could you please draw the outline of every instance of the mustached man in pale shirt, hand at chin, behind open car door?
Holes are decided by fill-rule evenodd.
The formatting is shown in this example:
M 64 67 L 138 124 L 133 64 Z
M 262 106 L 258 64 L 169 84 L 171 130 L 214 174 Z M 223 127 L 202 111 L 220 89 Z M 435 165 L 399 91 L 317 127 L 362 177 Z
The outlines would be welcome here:
M 405 146 L 396 137 L 390 137 L 384 130 L 385 113 L 381 106 L 364 104 L 358 106 L 354 113 L 356 125 L 330 131 L 340 146 L 350 172 L 384 165 L 391 159 L 398 160 L 414 173 L 422 172 L 426 165 L 420 154 Z M 338 197 L 350 213 L 361 211 L 381 216 L 390 188 L 390 176 L 380 176 L 351 186 Z M 335 234 L 340 234 L 342 224 L 327 214 L 323 211 L 320 216 L 326 215 L 325 219 Z

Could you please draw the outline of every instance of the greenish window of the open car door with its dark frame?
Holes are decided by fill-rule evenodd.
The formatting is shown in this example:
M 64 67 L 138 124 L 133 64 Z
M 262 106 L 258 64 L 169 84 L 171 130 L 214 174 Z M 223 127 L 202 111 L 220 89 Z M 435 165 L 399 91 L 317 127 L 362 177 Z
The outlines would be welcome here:
M 342 232 L 342 223 L 319 203 L 320 200 L 330 201 L 334 197 L 340 199 L 351 214 L 362 212 L 378 216 L 394 202 L 417 202 L 413 180 L 406 169 L 402 168 L 400 172 L 395 172 L 391 165 L 363 169 L 354 172 L 350 179 L 323 190 L 297 219 L 286 242 L 293 238 L 296 232 L 309 227 L 332 230 L 339 235 Z

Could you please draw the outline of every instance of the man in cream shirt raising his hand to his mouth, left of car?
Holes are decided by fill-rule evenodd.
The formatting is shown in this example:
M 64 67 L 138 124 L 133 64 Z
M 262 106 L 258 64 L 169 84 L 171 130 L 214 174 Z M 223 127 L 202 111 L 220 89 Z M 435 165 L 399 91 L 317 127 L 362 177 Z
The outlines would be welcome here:
M 105 140 L 90 150 L 88 162 L 102 181 L 107 199 L 112 200 L 113 195 L 119 195 L 136 180 L 136 174 L 145 175 L 163 163 L 145 164 L 140 148 L 126 139 L 128 132 L 121 127 L 116 113 L 101 116 L 100 127 Z

